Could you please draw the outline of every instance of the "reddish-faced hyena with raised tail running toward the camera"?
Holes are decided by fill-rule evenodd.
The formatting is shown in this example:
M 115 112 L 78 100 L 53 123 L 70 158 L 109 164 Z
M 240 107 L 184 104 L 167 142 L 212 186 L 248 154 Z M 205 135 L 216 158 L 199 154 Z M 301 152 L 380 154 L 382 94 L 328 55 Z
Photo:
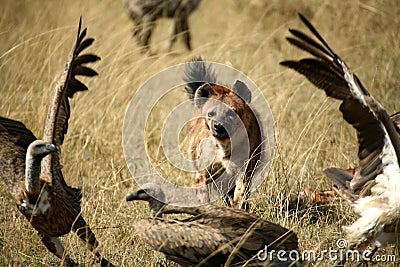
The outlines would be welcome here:
M 226 197 L 228 203 L 233 207 L 246 205 L 262 142 L 260 125 L 249 106 L 251 91 L 240 80 L 232 88 L 218 85 L 215 73 L 201 58 L 187 64 L 183 80 L 195 112 L 188 123 L 187 138 L 189 156 L 197 169 L 198 200 L 210 201 L 206 184 L 225 172 L 235 183 Z M 207 154 L 207 148 L 201 145 L 205 139 L 212 141 L 216 151 L 214 161 L 206 168 L 199 161 Z

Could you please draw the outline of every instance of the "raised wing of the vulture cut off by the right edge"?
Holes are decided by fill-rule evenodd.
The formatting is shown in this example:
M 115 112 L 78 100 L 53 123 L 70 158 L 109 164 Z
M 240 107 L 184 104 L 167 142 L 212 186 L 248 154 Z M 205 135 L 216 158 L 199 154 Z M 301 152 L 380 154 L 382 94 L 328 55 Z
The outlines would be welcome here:
M 311 23 L 302 15 L 300 18 L 319 42 L 292 29 L 290 32 L 294 37 L 288 37 L 287 40 L 315 58 L 283 61 L 280 64 L 303 74 L 329 97 L 342 100 L 340 111 L 343 118 L 357 131 L 360 166 L 350 182 L 350 189 L 353 191 L 351 193 L 358 194 L 367 184 L 369 187 L 371 181 L 375 183 L 375 178 L 385 166 L 395 165 L 398 168 L 399 129 Z M 385 155 L 388 157 L 383 164 L 382 157 Z M 341 175 L 336 179 L 348 180 L 348 176 Z M 342 186 L 345 183 L 341 181 Z

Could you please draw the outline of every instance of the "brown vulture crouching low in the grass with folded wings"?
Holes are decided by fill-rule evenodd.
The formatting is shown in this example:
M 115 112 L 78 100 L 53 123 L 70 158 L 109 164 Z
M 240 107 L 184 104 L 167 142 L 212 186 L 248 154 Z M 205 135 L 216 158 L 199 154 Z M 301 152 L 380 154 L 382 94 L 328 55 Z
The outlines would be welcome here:
M 211 204 L 165 205 L 164 192 L 153 183 L 132 191 L 126 200 L 148 201 L 150 218 L 135 224 L 136 233 L 181 266 L 301 266 L 296 262 L 300 257 L 293 231 L 243 210 Z M 163 214 L 187 218 L 166 219 Z

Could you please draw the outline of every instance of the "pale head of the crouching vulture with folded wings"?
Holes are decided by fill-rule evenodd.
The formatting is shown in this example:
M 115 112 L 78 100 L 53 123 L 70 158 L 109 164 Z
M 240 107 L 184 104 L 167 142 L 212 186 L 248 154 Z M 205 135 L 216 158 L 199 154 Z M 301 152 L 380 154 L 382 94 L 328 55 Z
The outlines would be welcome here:
M 165 205 L 165 194 L 161 187 L 154 183 L 147 183 L 141 189 L 134 190 L 126 195 L 126 201 L 144 200 L 149 202 L 150 217 L 160 217 L 159 211 Z

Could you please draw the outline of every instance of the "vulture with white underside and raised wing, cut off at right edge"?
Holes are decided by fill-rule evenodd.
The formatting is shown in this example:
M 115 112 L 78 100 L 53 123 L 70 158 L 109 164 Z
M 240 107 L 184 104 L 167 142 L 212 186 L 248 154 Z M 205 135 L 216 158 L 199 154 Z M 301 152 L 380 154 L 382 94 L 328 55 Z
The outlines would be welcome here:
M 344 228 L 348 249 L 365 250 L 371 246 L 372 256 L 379 247 L 396 243 L 399 237 L 398 114 L 389 116 L 313 25 L 301 14 L 300 18 L 319 42 L 294 29 L 289 30 L 293 37 L 287 40 L 314 57 L 280 64 L 304 75 L 327 96 L 340 100 L 344 120 L 357 132 L 359 166 L 324 172 L 358 216 Z

